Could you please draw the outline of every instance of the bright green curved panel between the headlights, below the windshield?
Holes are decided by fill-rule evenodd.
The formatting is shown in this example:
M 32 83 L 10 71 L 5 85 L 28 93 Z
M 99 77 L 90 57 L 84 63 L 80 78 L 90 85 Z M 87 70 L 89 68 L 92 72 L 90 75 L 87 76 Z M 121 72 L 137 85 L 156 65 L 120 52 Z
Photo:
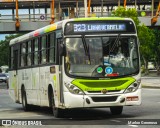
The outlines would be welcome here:
M 101 91 L 102 89 L 107 90 L 123 90 L 129 85 L 135 82 L 132 77 L 109 79 L 109 80 L 86 80 L 86 79 L 75 79 L 72 84 L 76 85 L 83 91 Z

